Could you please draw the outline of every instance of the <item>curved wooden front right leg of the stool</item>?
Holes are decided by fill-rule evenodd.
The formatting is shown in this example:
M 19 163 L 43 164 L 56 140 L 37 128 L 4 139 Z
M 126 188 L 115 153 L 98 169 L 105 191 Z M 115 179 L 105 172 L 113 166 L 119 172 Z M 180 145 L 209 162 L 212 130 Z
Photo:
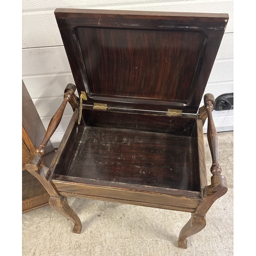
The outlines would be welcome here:
M 186 249 L 187 248 L 187 239 L 188 237 L 192 236 L 193 234 L 198 233 L 206 226 L 205 216 L 197 216 L 195 214 L 191 214 L 190 220 L 187 224 L 181 229 L 178 246 L 180 248 Z

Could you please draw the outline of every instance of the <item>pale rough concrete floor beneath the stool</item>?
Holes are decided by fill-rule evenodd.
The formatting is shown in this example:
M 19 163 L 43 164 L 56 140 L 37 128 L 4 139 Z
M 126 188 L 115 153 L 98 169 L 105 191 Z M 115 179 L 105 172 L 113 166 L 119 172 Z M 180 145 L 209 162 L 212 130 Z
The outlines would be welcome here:
M 228 192 L 209 209 L 206 227 L 178 248 L 187 212 L 68 198 L 82 222 L 81 234 L 73 223 L 50 206 L 23 214 L 24 256 L 75 255 L 233 255 L 233 132 L 218 133 L 218 157 Z M 206 167 L 211 157 L 205 139 Z M 208 182 L 210 182 L 210 170 Z

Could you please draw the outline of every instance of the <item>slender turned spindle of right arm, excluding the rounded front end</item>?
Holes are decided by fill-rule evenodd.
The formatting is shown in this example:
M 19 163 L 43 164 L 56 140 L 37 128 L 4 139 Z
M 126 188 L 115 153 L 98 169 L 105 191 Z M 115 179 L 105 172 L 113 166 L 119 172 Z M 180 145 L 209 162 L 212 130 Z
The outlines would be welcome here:
M 214 124 L 214 119 L 212 118 L 212 111 L 215 108 L 215 98 L 214 95 L 208 93 L 204 95 L 204 106 L 208 116 L 208 126 L 207 126 L 207 139 L 210 147 L 210 153 L 212 158 L 212 165 L 210 171 L 212 175 L 221 174 L 221 166 L 218 163 L 218 135 L 216 127 Z

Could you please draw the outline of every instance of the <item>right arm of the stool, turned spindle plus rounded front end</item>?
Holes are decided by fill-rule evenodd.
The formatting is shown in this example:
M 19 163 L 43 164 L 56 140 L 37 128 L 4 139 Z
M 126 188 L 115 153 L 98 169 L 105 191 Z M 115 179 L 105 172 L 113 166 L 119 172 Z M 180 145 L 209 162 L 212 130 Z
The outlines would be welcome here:
M 222 169 L 218 163 L 218 135 L 214 119 L 212 118 L 212 111 L 215 108 L 214 95 L 209 93 L 204 95 L 204 108 L 208 117 L 207 139 L 212 159 L 212 165 L 210 167 L 210 172 L 212 173 L 211 188 L 215 191 L 219 189 L 227 191 L 226 178 L 221 175 Z

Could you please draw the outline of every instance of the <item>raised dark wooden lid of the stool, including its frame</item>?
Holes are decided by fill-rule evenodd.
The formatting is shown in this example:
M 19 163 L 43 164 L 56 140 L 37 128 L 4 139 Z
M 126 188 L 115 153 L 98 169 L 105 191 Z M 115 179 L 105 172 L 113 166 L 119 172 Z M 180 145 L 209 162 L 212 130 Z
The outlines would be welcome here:
M 197 113 L 228 14 L 56 9 L 86 104 Z

